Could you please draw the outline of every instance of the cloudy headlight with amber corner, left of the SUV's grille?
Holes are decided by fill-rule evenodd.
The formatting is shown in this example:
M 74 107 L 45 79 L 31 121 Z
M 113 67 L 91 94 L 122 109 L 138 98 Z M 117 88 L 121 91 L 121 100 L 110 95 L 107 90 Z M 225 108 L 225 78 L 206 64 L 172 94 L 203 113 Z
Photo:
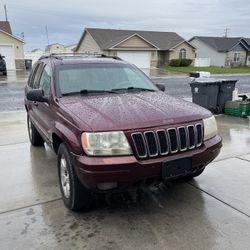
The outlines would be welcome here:
M 122 131 L 83 133 L 82 147 L 88 155 L 131 155 L 132 151 Z

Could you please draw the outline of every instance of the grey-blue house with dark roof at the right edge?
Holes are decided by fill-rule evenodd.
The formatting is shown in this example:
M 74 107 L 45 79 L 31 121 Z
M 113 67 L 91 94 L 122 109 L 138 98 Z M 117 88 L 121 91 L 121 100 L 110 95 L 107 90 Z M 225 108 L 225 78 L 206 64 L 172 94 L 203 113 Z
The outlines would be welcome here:
M 189 42 L 196 47 L 197 59 L 210 58 L 211 66 L 245 66 L 250 64 L 250 39 L 195 36 Z

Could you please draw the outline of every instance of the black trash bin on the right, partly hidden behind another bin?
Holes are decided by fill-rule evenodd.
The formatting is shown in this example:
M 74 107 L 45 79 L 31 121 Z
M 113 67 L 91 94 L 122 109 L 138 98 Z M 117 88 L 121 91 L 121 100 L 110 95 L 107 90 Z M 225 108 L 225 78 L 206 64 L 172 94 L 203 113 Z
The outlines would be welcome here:
M 233 91 L 235 90 L 235 84 L 238 80 L 222 80 L 219 84 L 218 94 L 218 112 L 222 113 L 225 109 L 227 101 L 231 101 L 233 97 Z

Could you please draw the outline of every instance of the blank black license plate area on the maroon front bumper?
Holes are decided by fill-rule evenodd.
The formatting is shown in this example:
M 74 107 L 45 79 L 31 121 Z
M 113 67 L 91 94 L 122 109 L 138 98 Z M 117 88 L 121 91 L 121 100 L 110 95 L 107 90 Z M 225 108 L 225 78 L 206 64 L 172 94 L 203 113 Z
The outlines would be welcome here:
M 192 158 L 182 158 L 173 161 L 165 161 L 162 163 L 162 177 L 175 178 L 184 176 L 192 172 Z

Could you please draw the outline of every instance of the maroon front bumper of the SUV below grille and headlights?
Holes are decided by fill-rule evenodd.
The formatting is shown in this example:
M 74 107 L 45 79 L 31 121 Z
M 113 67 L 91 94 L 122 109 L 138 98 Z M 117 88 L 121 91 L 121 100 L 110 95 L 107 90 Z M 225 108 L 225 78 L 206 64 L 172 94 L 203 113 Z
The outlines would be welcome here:
M 138 160 L 135 156 L 89 157 L 72 154 L 76 173 L 88 189 L 98 191 L 97 184 L 117 182 L 123 189 L 147 179 L 160 179 L 162 162 L 192 157 L 192 168 L 205 167 L 220 153 L 222 140 L 216 136 L 199 148 L 164 157 Z

